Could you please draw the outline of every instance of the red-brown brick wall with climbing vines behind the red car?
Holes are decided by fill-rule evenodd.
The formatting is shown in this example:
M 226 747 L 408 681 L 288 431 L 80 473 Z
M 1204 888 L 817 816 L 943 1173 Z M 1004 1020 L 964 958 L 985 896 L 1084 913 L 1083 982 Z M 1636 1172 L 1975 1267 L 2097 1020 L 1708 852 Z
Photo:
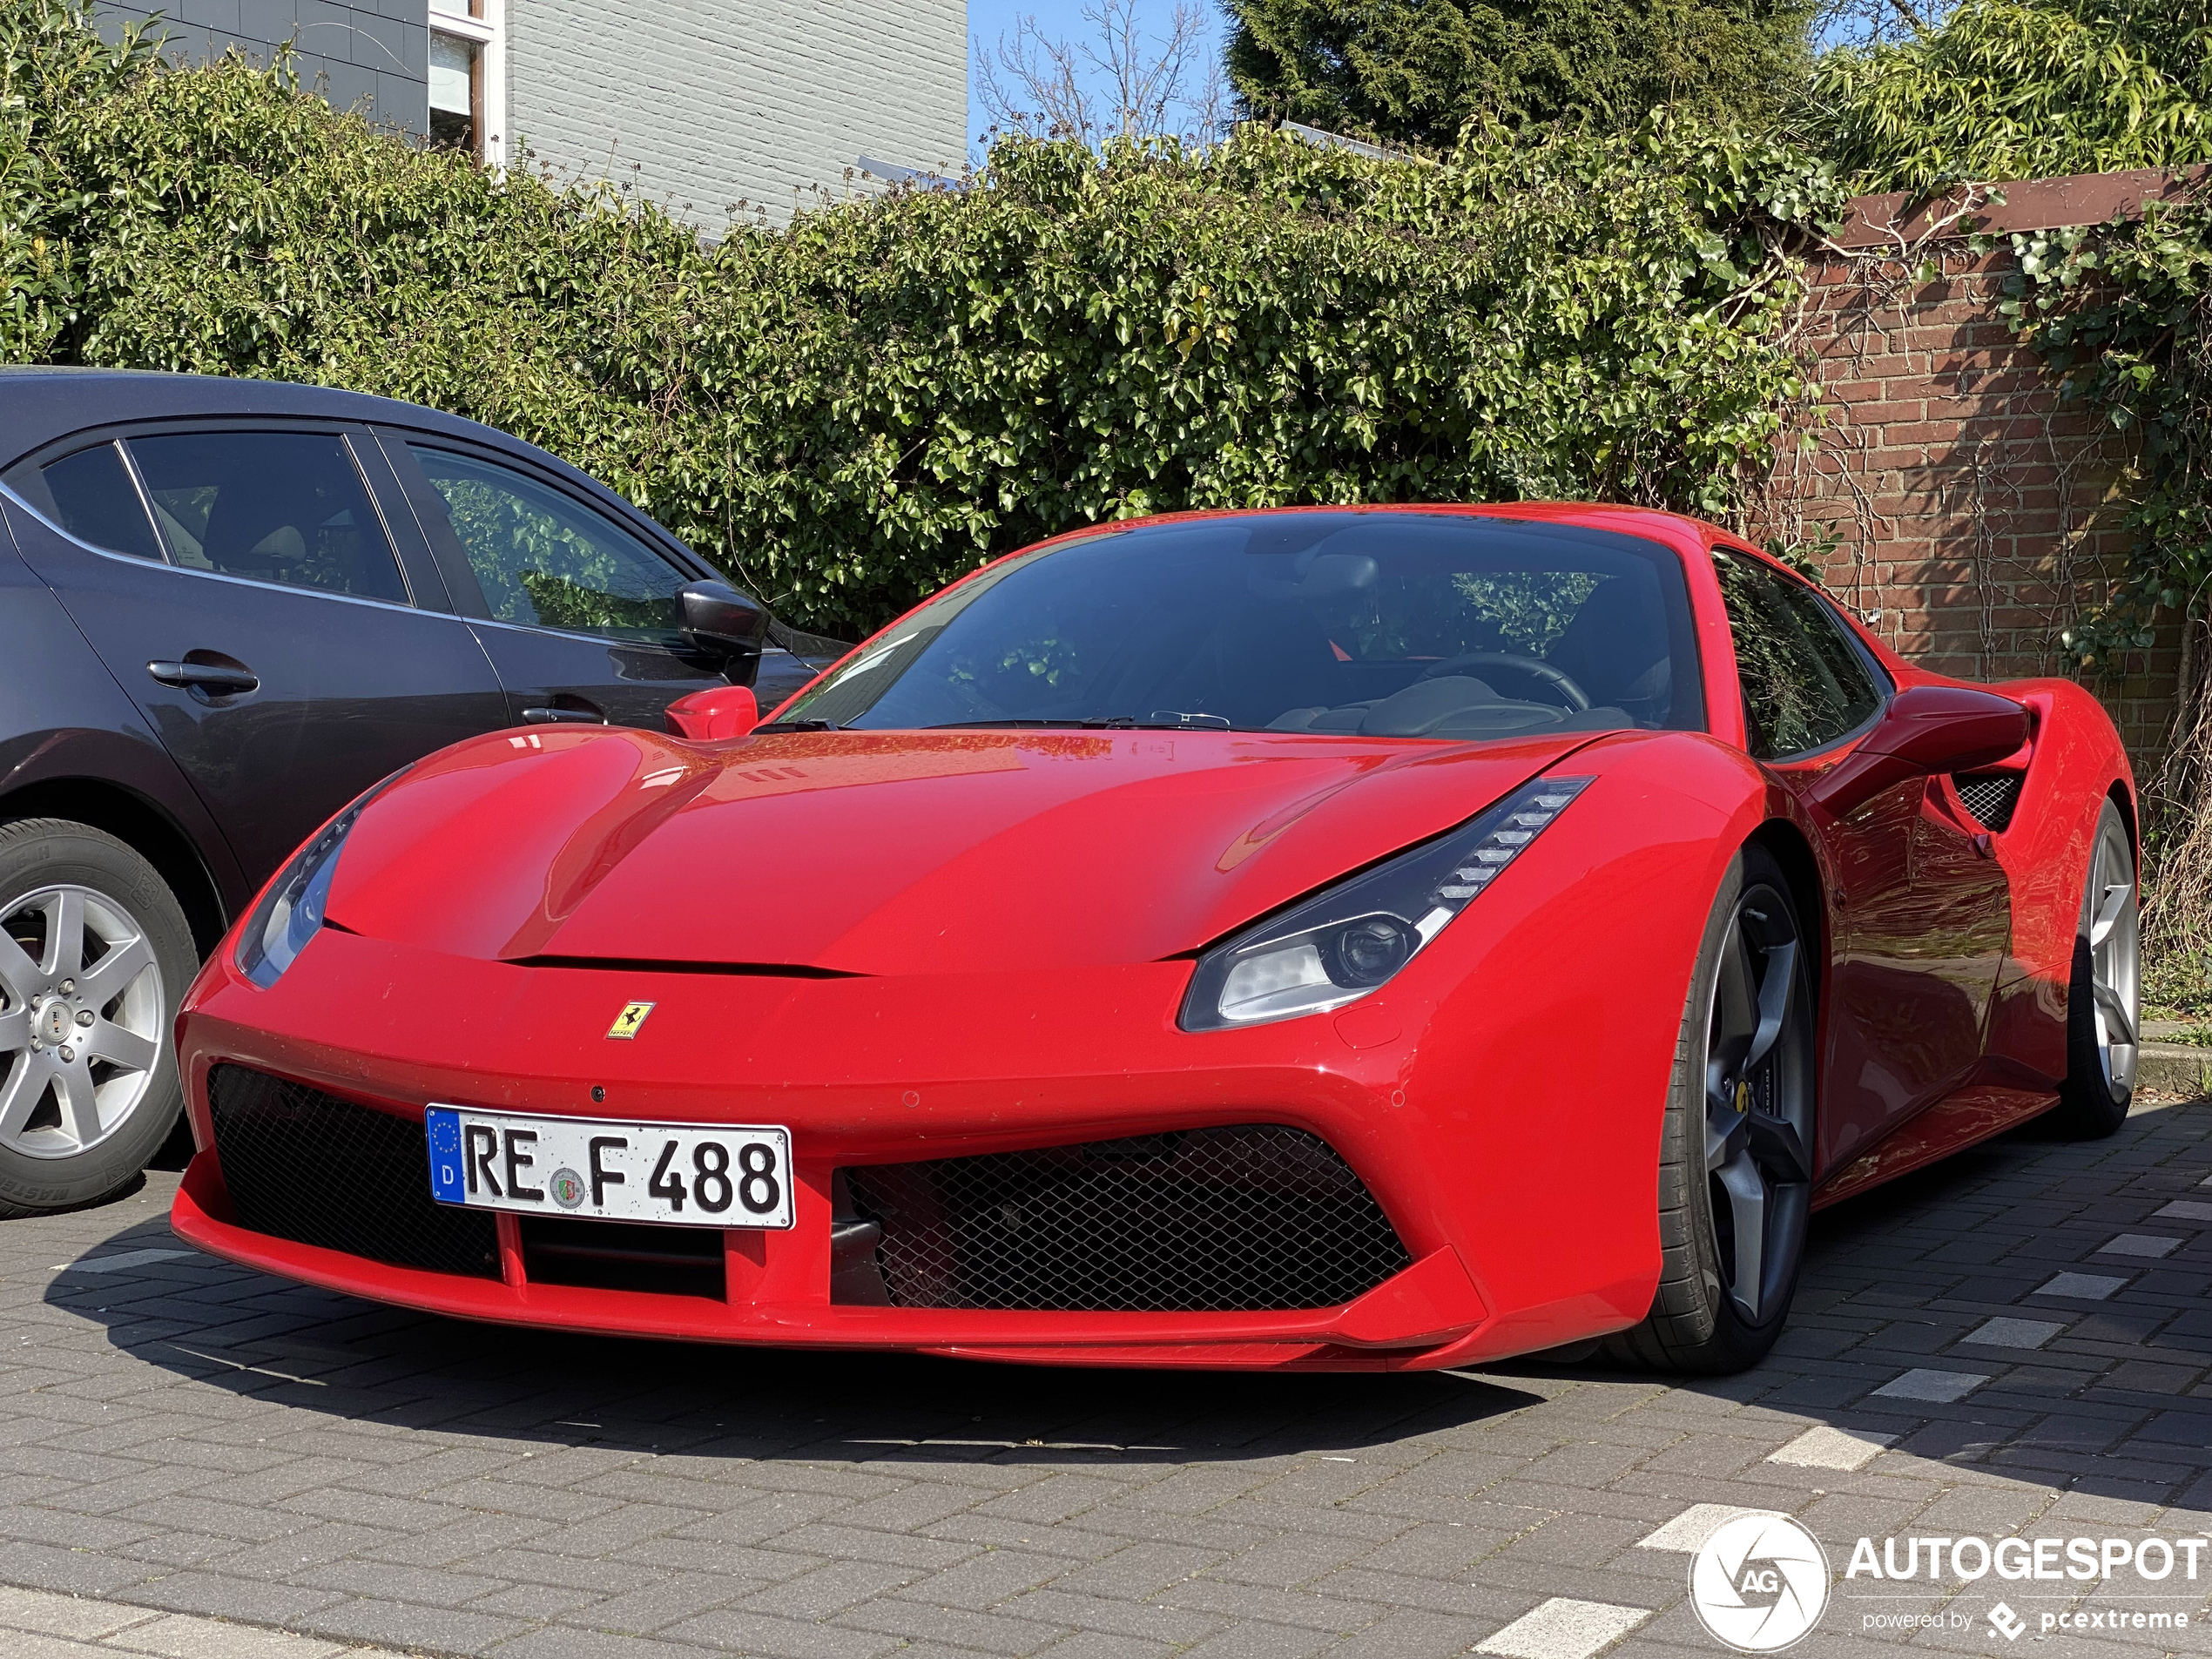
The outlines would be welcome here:
M 2008 186 L 1991 230 L 2095 223 L 2166 175 Z M 2152 181 L 2152 184 L 2146 184 Z M 2163 188 L 2163 186 L 2157 186 Z M 1785 449 L 1759 513 L 1783 542 L 1834 540 L 1823 580 L 1911 661 L 1969 679 L 2070 672 L 2057 635 L 2110 593 L 2128 549 L 2117 493 L 2126 447 L 2059 407 L 2042 361 L 1997 312 L 2008 252 L 1905 204 L 1858 204 L 1840 248 L 1812 261 L 1803 312 L 1820 416 Z M 2161 750 L 2179 628 L 2101 664 L 2137 770 Z

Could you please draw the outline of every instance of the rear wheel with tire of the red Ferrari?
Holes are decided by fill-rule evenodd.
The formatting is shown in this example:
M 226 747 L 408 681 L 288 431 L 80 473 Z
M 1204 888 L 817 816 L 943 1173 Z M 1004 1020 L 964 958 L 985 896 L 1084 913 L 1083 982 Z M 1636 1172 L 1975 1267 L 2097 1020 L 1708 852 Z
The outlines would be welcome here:
M 2128 1121 L 2141 1029 L 2143 931 L 2137 914 L 2135 843 L 2119 807 L 2097 814 L 2088 885 L 2066 989 L 2066 1082 L 2051 1126 L 2095 1141 Z

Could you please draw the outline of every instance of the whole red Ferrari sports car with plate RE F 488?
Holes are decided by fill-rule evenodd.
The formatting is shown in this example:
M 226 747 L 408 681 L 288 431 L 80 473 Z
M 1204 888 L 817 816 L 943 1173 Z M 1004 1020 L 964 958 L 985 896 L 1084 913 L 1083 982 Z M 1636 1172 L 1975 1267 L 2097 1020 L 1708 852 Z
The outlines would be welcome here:
M 1097 526 L 752 717 L 334 818 L 186 1002 L 177 1232 L 591 1332 L 1717 1371 L 1814 1208 L 2128 1108 L 2104 710 L 1710 524 Z

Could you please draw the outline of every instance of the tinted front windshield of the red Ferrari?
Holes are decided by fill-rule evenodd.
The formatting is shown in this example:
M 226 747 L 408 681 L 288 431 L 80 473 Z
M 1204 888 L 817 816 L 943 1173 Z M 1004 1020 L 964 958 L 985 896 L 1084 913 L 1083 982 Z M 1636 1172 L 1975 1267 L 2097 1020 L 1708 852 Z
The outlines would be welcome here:
M 1701 728 L 1674 553 L 1506 518 L 1252 513 L 1102 531 L 947 588 L 776 726 L 1482 739 Z

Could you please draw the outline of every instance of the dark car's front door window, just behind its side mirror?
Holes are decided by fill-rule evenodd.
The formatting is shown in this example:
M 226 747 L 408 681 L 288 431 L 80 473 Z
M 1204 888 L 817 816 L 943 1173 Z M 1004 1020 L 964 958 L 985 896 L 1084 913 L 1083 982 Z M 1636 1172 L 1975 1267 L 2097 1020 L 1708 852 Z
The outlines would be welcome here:
M 613 520 L 498 462 L 407 445 L 500 622 L 684 644 L 692 577 Z

